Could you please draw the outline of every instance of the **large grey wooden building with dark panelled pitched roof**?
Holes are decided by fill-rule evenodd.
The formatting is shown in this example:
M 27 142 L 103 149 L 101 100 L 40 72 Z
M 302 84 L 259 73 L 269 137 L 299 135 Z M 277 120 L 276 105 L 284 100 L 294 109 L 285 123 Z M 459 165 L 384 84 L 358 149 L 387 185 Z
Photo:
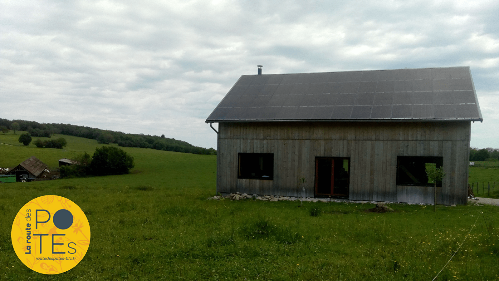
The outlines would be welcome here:
M 243 75 L 207 118 L 219 123 L 217 191 L 466 204 L 466 67 Z

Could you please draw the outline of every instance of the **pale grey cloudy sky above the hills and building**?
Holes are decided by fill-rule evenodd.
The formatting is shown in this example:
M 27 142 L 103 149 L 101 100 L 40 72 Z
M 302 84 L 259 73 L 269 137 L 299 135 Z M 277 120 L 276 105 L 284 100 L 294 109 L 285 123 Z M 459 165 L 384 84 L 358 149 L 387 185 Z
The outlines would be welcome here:
M 0 118 L 217 146 L 244 74 L 467 66 L 499 148 L 497 0 L 0 0 Z M 217 124 L 214 124 L 217 127 Z

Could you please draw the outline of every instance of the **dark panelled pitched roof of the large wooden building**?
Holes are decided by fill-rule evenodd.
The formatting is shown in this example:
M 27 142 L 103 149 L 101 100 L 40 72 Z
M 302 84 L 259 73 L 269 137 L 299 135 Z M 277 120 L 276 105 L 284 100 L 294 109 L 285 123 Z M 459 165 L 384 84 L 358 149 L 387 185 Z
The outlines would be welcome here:
M 242 75 L 206 122 L 483 121 L 469 66 Z

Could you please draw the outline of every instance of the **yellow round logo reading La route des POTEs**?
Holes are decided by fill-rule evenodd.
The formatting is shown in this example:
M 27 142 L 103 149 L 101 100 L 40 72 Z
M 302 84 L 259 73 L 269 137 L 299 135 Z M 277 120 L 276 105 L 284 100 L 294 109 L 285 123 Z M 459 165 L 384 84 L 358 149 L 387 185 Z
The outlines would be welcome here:
M 90 226 L 83 211 L 57 195 L 35 198 L 15 216 L 12 246 L 26 267 L 42 274 L 74 268 L 90 244 Z

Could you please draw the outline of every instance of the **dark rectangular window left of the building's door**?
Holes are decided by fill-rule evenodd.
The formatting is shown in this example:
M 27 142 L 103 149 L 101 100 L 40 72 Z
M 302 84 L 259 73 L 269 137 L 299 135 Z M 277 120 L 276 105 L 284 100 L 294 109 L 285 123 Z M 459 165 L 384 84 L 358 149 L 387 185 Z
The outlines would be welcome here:
M 239 153 L 238 178 L 272 180 L 274 177 L 273 153 Z

